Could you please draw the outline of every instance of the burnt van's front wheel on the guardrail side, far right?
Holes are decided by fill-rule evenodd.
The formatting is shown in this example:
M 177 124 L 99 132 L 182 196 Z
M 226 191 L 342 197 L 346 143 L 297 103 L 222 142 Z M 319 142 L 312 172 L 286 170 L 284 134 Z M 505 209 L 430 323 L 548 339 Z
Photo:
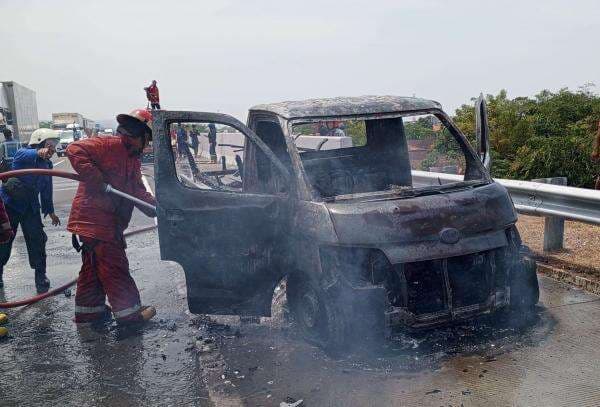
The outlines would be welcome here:
M 530 257 L 523 257 L 510 275 L 510 308 L 531 309 L 540 299 L 537 265 Z

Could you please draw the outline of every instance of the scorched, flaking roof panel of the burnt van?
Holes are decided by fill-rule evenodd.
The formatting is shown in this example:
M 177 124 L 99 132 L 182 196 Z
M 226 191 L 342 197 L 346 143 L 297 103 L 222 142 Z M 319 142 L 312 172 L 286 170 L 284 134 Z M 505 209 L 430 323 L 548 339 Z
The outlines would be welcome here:
M 271 112 L 285 119 L 322 116 L 353 116 L 396 113 L 413 110 L 441 109 L 433 100 L 403 96 L 354 96 L 306 99 L 256 105 L 251 112 Z

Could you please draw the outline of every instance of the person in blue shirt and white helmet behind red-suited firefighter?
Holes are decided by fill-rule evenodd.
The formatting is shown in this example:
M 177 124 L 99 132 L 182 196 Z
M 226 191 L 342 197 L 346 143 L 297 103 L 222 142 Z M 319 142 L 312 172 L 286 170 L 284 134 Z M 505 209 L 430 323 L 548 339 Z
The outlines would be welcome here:
M 50 158 L 56 152 L 55 138 L 52 131 L 32 134 L 28 147 L 17 150 L 12 162 L 13 170 L 27 168 L 52 169 Z M 38 293 L 48 291 L 50 281 L 46 277 L 46 241 L 41 212 L 44 217 L 50 216 L 54 226 L 60 225 L 60 220 L 54 214 L 52 202 L 52 177 L 45 175 L 23 175 L 9 178 L 0 187 L 0 197 L 6 206 L 13 231 L 21 225 L 29 265 L 35 270 L 35 286 Z M 41 201 L 41 205 L 40 205 Z M 14 237 L 7 243 L 0 244 L 0 280 L 4 266 L 10 258 Z

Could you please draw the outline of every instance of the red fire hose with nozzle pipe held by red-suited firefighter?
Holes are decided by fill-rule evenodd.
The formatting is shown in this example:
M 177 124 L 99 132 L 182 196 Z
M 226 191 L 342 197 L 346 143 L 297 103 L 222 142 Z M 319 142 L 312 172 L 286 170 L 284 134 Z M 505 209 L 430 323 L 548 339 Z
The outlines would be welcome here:
M 73 172 L 57 171 L 57 170 L 43 170 L 43 169 L 27 169 L 27 170 L 15 170 L 15 171 L 3 172 L 3 173 L 0 173 L 0 180 L 4 181 L 8 178 L 18 177 L 21 175 L 49 175 L 51 177 L 61 177 L 61 178 L 72 179 L 74 181 L 80 181 L 79 174 L 76 174 Z M 137 205 L 145 206 L 146 208 L 150 208 L 150 209 L 156 209 L 154 206 L 150 205 L 149 203 L 144 202 L 141 199 L 138 199 L 129 194 L 126 194 L 125 192 L 119 191 L 118 189 L 115 189 L 111 185 L 106 185 L 105 192 L 111 193 L 114 195 L 118 195 L 122 198 L 128 199 Z M 135 235 L 137 233 L 146 232 L 148 230 L 152 230 L 155 228 L 156 228 L 156 225 L 150 225 L 150 226 L 127 231 L 123 234 L 123 236 L 127 237 L 127 236 L 131 236 L 131 235 Z M 77 282 L 77 279 L 74 279 L 73 281 L 69 281 L 67 284 L 61 285 L 60 287 L 57 287 L 57 288 L 50 290 L 48 292 L 45 292 L 43 294 L 36 295 L 35 297 L 27 298 L 27 299 L 20 300 L 20 301 L 11 301 L 11 302 L 0 303 L 0 308 L 16 308 L 16 307 L 22 307 L 25 305 L 34 304 L 45 298 L 52 297 L 54 295 L 64 292 L 67 288 L 71 287 L 76 282 Z

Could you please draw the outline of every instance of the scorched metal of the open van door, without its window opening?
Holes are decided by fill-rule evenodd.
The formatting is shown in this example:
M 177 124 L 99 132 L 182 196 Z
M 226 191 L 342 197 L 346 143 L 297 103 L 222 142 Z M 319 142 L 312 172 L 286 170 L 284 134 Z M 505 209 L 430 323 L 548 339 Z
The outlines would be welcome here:
M 271 294 L 281 277 L 270 275 L 267 266 L 273 247 L 262 243 L 273 238 L 275 226 L 285 218 L 294 188 L 282 196 L 184 185 L 177 178 L 169 126 L 177 122 L 231 126 L 248 137 L 289 183 L 287 168 L 252 130 L 231 116 L 159 110 L 153 111 L 153 119 L 161 258 L 182 265 L 190 310 L 268 315 Z M 227 274 L 229 269 L 239 270 L 239 275 Z M 240 281 L 244 277 L 253 283 L 244 286 Z M 239 289 L 247 292 L 241 294 Z

